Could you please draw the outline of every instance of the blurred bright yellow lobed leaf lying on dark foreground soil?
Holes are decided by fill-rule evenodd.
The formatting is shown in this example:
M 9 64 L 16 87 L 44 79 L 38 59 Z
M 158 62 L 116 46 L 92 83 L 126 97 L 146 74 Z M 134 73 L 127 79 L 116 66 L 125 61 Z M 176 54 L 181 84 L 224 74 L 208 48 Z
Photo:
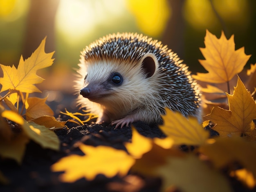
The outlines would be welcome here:
M 93 180 L 98 174 L 109 178 L 117 174 L 125 176 L 135 163 L 125 151 L 112 147 L 81 144 L 79 148 L 85 156 L 70 155 L 52 165 L 54 172 L 65 171 L 60 176 L 61 181 L 72 183 L 83 177 Z

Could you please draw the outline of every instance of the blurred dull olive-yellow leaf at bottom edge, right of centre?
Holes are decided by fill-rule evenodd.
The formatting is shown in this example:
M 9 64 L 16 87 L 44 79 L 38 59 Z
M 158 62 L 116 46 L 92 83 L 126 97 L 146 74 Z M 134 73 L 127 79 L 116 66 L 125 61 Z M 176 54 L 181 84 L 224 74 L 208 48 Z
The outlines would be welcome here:
M 163 179 L 162 189 L 176 186 L 178 191 L 195 192 L 231 192 L 227 179 L 216 170 L 211 169 L 196 156 L 169 156 L 166 165 L 155 170 Z

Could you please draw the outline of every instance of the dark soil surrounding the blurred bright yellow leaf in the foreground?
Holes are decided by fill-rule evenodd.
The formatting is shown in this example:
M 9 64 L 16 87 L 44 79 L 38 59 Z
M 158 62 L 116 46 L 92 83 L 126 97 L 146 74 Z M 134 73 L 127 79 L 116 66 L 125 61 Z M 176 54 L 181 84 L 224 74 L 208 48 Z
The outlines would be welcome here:
M 149 126 L 137 122 L 134 126 L 144 136 L 164 136 L 157 125 Z M 58 181 L 61 172 L 51 172 L 51 165 L 70 154 L 84 155 L 77 147 L 80 142 L 86 145 L 106 145 L 126 150 L 124 142 L 129 141 L 132 136 L 130 127 L 114 129 L 113 126 L 97 124 L 79 127 L 73 127 L 70 124 L 68 127 L 72 128 L 55 130 L 61 140 L 59 152 L 42 149 L 40 145 L 31 141 L 27 145 L 21 165 L 11 160 L 0 160 L 0 170 L 10 181 L 9 185 L 0 185 L 0 192 L 159 191 L 161 185 L 159 178 L 145 178 L 136 174 L 130 174 L 125 178 L 115 176 L 111 179 L 98 175 L 94 181 L 90 182 L 85 179 L 74 183 Z M 136 182 L 131 183 L 131 180 Z

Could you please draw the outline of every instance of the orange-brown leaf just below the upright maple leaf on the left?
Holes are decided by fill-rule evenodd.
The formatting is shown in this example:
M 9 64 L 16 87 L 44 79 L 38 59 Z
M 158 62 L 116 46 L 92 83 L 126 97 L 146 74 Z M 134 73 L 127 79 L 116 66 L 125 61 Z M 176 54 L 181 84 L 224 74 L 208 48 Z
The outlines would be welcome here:
M 54 112 L 52 109 L 45 103 L 46 98 L 37 98 L 37 97 L 30 97 L 27 98 L 27 105 L 26 105 L 26 119 L 27 121 L 38 118 L 44 115 L 53 116 Z

